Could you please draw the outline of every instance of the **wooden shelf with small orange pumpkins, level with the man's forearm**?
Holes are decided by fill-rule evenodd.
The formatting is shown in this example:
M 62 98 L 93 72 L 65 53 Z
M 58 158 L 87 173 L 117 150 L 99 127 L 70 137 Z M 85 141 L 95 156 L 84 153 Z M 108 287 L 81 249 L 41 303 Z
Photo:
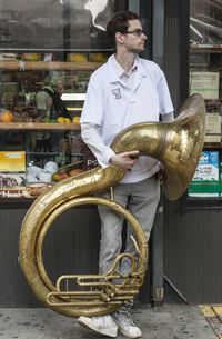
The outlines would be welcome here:
M 80 131 L 77 123 L 0 122 L 0 131 Z

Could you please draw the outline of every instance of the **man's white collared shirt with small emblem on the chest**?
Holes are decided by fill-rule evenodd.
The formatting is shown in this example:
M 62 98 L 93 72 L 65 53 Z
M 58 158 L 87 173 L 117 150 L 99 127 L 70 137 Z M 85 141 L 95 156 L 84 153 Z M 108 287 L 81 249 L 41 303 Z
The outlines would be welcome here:
M 109 147 L 124 128 L 173 111 L 165 77 L 152 61 L 135 57 L 131 73 L 111 56 L 92 76 L 81 114 L 82 138 L 102 167 L 109 166 L 113 151 Z M 87 128 L 85 128 L 87 126 Z M 90 126 L 97 126 L 94 133 Z M 159 163 L 150 157 L 140 157 L 132 171 L 121 182 L 137 182 L 151 177 Z

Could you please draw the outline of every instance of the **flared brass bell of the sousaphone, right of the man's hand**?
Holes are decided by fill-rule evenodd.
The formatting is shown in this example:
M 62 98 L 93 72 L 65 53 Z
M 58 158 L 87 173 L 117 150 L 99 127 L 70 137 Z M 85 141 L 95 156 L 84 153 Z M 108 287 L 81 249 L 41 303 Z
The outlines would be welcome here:
M 205 104 L 193 94 L 173 122 L 137 123 L 123 130 L 112 142 L 115 153 L 139 150 L 164 164 L 163 190 L 176 200 L 186 190 L 195 172 L 205 134 Z

